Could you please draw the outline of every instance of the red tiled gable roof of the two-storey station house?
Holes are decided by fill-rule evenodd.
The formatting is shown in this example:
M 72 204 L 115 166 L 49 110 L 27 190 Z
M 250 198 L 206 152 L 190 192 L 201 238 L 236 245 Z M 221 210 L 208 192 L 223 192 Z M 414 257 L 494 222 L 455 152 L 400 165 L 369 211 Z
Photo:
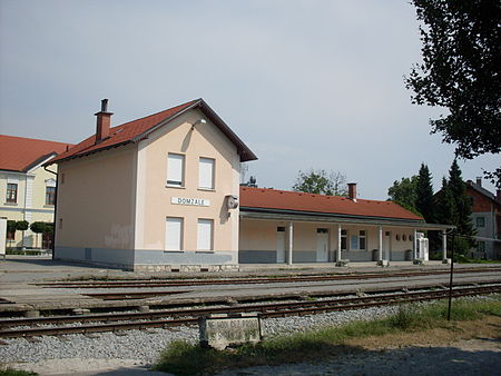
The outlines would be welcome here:
M 66 159 L 84 157 L 92 152 L 102 151 L 109 148 L 119 147 L 130 142 L 137 142 L 147 137 L 149 132 L 156 130 L 161 125 L 167 123 L 170 119 L 180 115 L 187 109 L 200 107 L 213 122 L 219 127 L 236 146 L 243 161 L 257 159 L 257 157 L 244 145 L 244 142 L 229 129 L 229 127 L 208 107 L 203 99 L 191 100 L 189 102 L 169 108 L 147 117 L 112 127 L 109 138 L 96 145 L 96 135 L 90 136 L 67 152 L 61 154 L 50 161 L 58 162 Z

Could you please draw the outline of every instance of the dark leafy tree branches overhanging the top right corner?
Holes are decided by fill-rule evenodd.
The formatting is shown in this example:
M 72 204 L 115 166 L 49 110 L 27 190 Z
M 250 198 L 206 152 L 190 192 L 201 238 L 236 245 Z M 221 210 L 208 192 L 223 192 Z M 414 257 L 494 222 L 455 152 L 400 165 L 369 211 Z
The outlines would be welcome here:
M 472 159 L 501 151 L 499 0 L 412 0 L 421 21 L 423 61 L 405 79 L 416 105 L 446 116 L 430 120 L 432 132 Z M 501 188 L 501 169 L 492 174 Z

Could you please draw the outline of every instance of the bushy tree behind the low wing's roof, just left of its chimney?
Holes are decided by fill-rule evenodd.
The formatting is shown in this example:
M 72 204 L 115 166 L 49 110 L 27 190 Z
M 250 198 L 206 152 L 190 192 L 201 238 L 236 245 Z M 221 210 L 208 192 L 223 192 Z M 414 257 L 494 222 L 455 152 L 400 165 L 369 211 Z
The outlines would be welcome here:
M 293 190 L 316 195 L 346 196 L 346 176 L 341 172 L 314 169 L 308 172 L 299 171 Z

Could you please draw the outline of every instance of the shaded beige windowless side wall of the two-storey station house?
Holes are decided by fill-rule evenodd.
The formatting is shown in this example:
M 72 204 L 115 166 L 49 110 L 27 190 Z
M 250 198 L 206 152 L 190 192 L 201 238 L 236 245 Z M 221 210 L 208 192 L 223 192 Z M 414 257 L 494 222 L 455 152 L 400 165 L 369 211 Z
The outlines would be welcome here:
M 59 164 L 58 247 L 132 249 L 136 150 L 130 145 Z

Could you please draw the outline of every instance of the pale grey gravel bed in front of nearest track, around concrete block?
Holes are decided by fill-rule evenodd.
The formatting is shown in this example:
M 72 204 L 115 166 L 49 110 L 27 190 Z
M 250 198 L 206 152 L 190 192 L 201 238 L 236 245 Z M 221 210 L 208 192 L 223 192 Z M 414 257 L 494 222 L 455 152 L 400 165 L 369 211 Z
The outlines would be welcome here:
M 395 311 L 395 307 L 374 307 L 358 310 L 335 311 L 314 316 L 289 316 L 267 318 L 262 321 L 265 337 L 303 332 L 312 327 L 338 325 L 354 319 L 372 319 Z M 86 336 L 81 334 L 61 337 L 37 337 L 35 342 L 23 338 L 4 339 L 0 346 L 0 358 L 4 363 L 36 363 L 43 359 L 97 358 L 138 359 L 153 364 L 159 353 L 173 340 L 198 340 L 197 327 L 129 330 L 124 335 L 101 333 Z

